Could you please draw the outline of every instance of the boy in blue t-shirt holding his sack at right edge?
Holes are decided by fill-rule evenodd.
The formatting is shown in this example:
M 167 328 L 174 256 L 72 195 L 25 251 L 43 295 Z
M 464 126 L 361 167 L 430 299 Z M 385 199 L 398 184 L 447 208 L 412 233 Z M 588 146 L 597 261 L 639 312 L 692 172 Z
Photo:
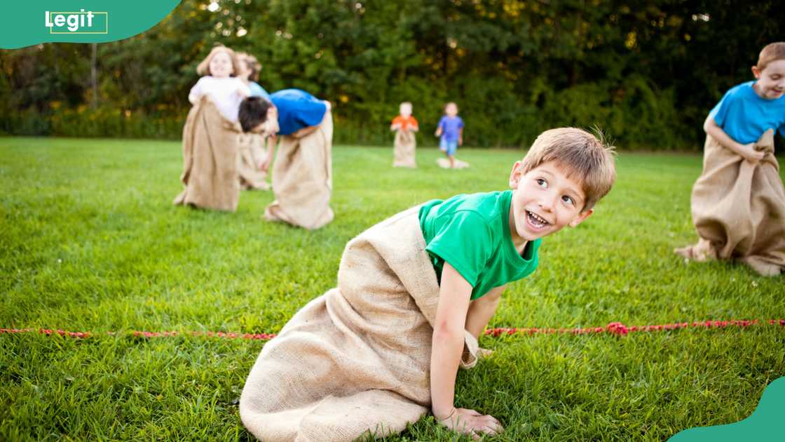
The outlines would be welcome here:
M 765 46 L 739 84 L 711 110 L 703 173 L 692 188 L 699 240 L 685 258 L 739 260 L 764 276 L 785 269 L 785 187 L 774 157 L 774 131 L 785 136 L 785 42 Z

